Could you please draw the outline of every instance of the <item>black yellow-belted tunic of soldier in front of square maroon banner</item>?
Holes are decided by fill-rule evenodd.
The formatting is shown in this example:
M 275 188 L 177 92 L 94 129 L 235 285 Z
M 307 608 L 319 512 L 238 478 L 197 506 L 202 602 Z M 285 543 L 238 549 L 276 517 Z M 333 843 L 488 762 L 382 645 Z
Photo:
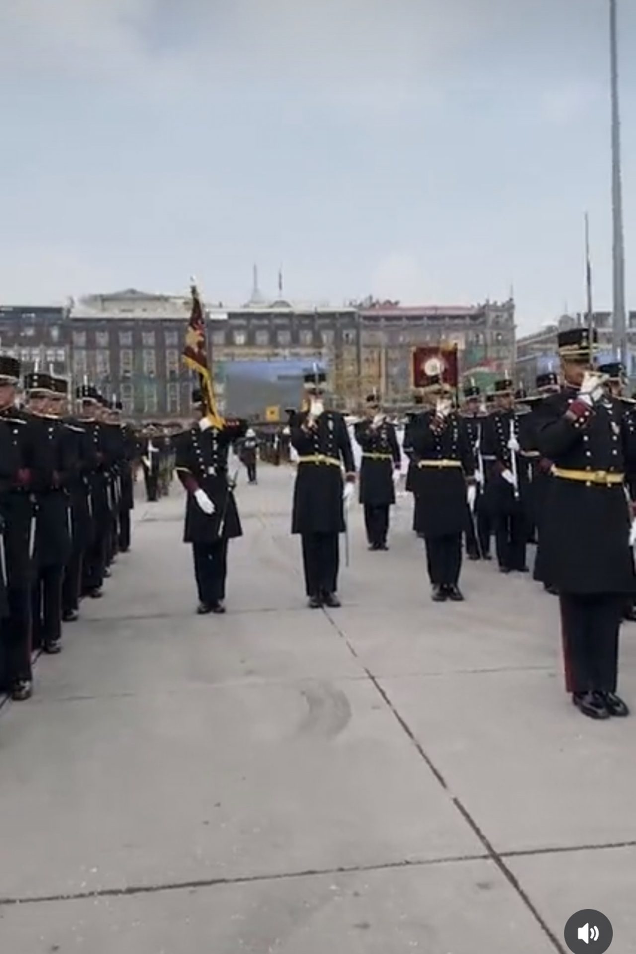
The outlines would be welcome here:
M 425 537 L 462 533 L 468 521 L 466 478 L 475 474 L 475 457 L 463 418 L 450 414 L 436 432 L 435 411 L 425 411 L 411 425 L 414 488 L 418 500 L 416 526 Z M 427 466 L 431 461 L 455 461 L 456 467 Z

